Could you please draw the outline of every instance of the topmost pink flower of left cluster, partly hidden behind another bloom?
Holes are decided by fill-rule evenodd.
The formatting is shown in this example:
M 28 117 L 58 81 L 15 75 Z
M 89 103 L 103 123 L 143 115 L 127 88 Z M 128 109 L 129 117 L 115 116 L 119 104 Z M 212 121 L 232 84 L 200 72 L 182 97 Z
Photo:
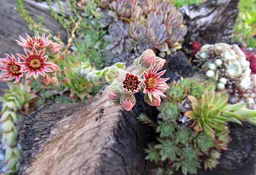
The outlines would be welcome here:
M 43 33 L 42 37 L 39 37 L 39 33 L 37 32 L 36 37 L 31 37 L 28 33 L 26 33 L 27 39 L 24 39 L 20 36 L 21 41 L 16 40 L 17 43 L 25 48 L 29 48 L 32 50 L 32 48 L 35 46 L 36 49 L 43 49 L 44 47 L 48 46 L 50 43 L 48 43 L 48 37 L 45 37 L 45 34 Z

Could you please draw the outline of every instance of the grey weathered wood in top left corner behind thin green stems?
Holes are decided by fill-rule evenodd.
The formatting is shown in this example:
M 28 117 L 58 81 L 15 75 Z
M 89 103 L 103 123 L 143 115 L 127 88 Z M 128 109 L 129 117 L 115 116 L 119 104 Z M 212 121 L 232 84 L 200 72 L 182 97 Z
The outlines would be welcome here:
M 45 2 L 35 2 L 33 0 L 23 0 L 26 9 L 30 12 L 32 18 L 39 21 L 39 16 L 43 17 L 43 24 L 51 31 L 53 35 L 59 32 L 63 41 L 67 40 L 66 29 L 58 23 L 49 12 L 49 7 Z M 34 33 L 28 28 L 28 22 L 19 17 L 15 10 L 15 0 L 0 0 L 0 57 L 6 57 L 5 53 L 25 54 L 23 47 L 15 41 L 20 40 L 19 34 L 26 38 L 25 32 L 31 36 Z M 56 9 L 57 10 L 57 9 Z

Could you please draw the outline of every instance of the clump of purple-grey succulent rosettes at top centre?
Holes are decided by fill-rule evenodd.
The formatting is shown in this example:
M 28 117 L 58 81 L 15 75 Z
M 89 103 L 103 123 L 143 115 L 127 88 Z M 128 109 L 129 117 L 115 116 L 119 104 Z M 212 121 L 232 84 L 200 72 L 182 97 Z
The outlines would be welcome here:
M 181 48 L 187 32 L 181 12 L 169 0 L 101 0 L 101 23 L 108 34 L 106 49 L 136 56 L 148 49 L 162 54 Z

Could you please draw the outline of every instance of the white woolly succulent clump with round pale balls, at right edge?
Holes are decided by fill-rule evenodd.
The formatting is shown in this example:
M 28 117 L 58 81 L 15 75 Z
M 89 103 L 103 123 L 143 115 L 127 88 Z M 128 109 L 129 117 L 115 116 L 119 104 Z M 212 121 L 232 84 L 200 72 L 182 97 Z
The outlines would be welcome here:
M 216 43 L 203 45 L 195 54 L 197 66 L 208 78 L 216 80 L 217 88 L 228 88 L 232 103 L 248 102 L 255 108 L 256 75 L 251 74 L 250 62 L 238 45 Z M 253 59 L 253 58 L 252 58 Z

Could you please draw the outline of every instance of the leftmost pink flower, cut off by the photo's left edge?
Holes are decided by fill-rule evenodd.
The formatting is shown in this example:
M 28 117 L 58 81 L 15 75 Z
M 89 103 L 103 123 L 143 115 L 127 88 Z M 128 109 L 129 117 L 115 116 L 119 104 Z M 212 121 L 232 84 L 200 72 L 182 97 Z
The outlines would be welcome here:
M 0 58 L 0 62 L 2 65 L 0 66 L 0 69 L 6 71 L 5 73 L 1 73 L 0 76 L 9 76 L 8 78 L 3 78 L 2 80 L 4 81 L 16 78 L 14 83 L 17 83 L 23 76 L 23 73 L 20 71 L 21 66 L 17 64 L 18 62 L 13 54 L 12 57 L 7 53 L 6 55 L 6 58 Z M 21 59 L 18 58 L 18 61 L 20 62 Z

